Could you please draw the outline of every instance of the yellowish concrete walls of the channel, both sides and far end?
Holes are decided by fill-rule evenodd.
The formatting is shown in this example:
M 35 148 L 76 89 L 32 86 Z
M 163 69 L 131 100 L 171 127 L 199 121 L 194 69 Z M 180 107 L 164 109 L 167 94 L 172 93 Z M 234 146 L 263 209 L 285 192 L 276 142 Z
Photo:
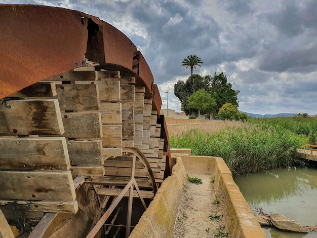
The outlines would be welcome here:
M 171 155 L 176 161 L 172 175 L 162 183 L 130 237 L 172 236 L 186 173 L 215 176 L 215 191 L 223 211 L 228 237 L 266 237 L 222 158 L 192 156 L 190 149 L 171 149 Z

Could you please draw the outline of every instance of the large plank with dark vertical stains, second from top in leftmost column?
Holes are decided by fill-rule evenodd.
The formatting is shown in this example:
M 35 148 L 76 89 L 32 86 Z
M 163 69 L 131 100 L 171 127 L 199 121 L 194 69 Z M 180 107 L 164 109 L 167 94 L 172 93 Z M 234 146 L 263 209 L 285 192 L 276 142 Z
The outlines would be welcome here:
M 61 135 L 64 133 L 57 99 L 6 101 L 0 105 L 0 134 Z

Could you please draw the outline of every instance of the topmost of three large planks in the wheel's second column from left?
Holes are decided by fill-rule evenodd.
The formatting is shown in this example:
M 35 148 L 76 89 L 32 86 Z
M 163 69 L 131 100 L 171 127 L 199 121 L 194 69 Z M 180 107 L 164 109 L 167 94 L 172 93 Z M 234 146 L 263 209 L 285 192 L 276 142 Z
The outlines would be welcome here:
M 98 110 L 99 92 L 95 84 L 63 84 L 56 86 L 62 110 Z

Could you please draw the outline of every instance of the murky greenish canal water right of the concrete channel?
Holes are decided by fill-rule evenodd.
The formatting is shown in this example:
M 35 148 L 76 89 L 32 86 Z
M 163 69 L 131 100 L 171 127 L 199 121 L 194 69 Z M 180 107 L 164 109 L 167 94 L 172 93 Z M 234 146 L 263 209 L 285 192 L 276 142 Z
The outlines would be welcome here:
M 256 208 L 265 213 L 282 214 L 301 225 L 317 224 L 317 169 L 281 168 L 234 177 L 254 214 Z M 271 226 L 262 227 L 267 237 L 311 238 L 308 234 L 281 231 Z

